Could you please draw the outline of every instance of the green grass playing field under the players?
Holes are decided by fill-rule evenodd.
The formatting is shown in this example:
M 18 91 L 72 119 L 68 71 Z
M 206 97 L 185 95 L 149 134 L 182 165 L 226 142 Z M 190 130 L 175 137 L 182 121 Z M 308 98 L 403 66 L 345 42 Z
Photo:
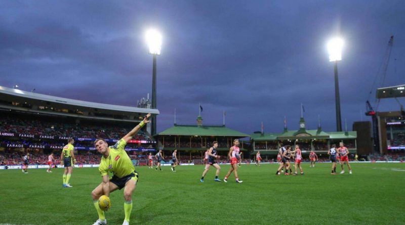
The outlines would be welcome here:
M 222 179 L 230 165 L 222 165 Z M 213 181 L 211 167 L 179 166 L 154 171 L 137 167 L 131 224 L 404 224 L 405 164 L 357 163 L 353 174 L 330 174 L 318 163 L 305 175 L 274 175 L 277 165 L 239 168 L 242 184 Z M 346 168 L 347 169 L 347 168 Z M 0 224 L 93 224 L 98 218 L 91 191 L 101 182 L 97 168 L 74 168 L 62 188 L 63 169 L 0 170 Z M 340 168 L 337 169 L 340 172 Z M 124 219 L 123 191 L 110 195 L 108 224 Z

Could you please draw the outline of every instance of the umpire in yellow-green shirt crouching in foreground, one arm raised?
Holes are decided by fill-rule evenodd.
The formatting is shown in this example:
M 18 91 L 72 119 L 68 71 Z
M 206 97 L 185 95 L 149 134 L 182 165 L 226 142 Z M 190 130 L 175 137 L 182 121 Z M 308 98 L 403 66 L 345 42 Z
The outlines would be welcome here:
M 135 134 L 148 123 L 150 113 L 135 126 L 124 138 L 121 138 L 115 145 L 108 146 L 104 139 L 97 139 L 94 142 L 97 152 L 101 153 L 101 162 L 99 171 L 103 182 L 92 191 L 94 207 L 97 210 L 99 218 L 93 225 L 107 224 L 104 212 L 98 205 L 98 199 L 102 195 L 110 196 L 110 193 L 124 188 L 124 213 L 125 219 L 123 225 L 129 225 L 132 211 L 132 193 L 135 191 L 138 182 L 138 173 L 132 164 L 130 157 L 125 151 L 127 143 Z M 109 173 L 113 173 L 109 178 Z

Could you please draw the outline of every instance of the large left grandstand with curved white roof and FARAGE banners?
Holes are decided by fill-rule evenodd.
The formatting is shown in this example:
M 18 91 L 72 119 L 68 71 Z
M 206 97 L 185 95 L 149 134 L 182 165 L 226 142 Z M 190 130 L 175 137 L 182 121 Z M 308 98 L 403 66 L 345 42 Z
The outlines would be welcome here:
M 0 86 L 0 161 L 19 165 L 22 155 L 30 152 L 31 164 L 44 164 L 47 154 L 58 154 L 67 140 L 73 138 L 78 163 L 97 164 L 93 142 L 97 138 L 110 144 L 118 141 L 147 113 L 157 115 L 159 111 L 65 99 Z M 155 143 L 146 127 L 131 140 L 126 150 L 134 156 L 143 155 L 135 152 L 155 151 Z

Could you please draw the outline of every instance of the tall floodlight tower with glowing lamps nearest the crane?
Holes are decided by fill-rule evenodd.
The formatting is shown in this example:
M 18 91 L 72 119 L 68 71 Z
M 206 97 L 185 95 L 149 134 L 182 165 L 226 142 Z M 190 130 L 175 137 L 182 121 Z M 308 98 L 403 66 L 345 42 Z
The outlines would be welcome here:
M 342 60 L 343 40 L 333 38 L 328 42 L 329 61 L 335 62 L 335 104 L 336 104 L 336 130 L 342 131 L 342 119 L 340 116 L 340 95 L 338 79 L 338 61 Z

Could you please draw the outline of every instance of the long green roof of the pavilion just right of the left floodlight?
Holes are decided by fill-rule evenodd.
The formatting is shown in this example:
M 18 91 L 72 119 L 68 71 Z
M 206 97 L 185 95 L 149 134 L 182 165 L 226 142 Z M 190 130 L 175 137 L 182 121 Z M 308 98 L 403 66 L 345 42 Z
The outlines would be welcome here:
M 223 137 L 249 137 L 249 134 L 239 132 L 222 126 L 204 126 L 204 125 L 178 125 L 166 129 L 158 135 L 177 135 L 177 136 L 223 136 Z

